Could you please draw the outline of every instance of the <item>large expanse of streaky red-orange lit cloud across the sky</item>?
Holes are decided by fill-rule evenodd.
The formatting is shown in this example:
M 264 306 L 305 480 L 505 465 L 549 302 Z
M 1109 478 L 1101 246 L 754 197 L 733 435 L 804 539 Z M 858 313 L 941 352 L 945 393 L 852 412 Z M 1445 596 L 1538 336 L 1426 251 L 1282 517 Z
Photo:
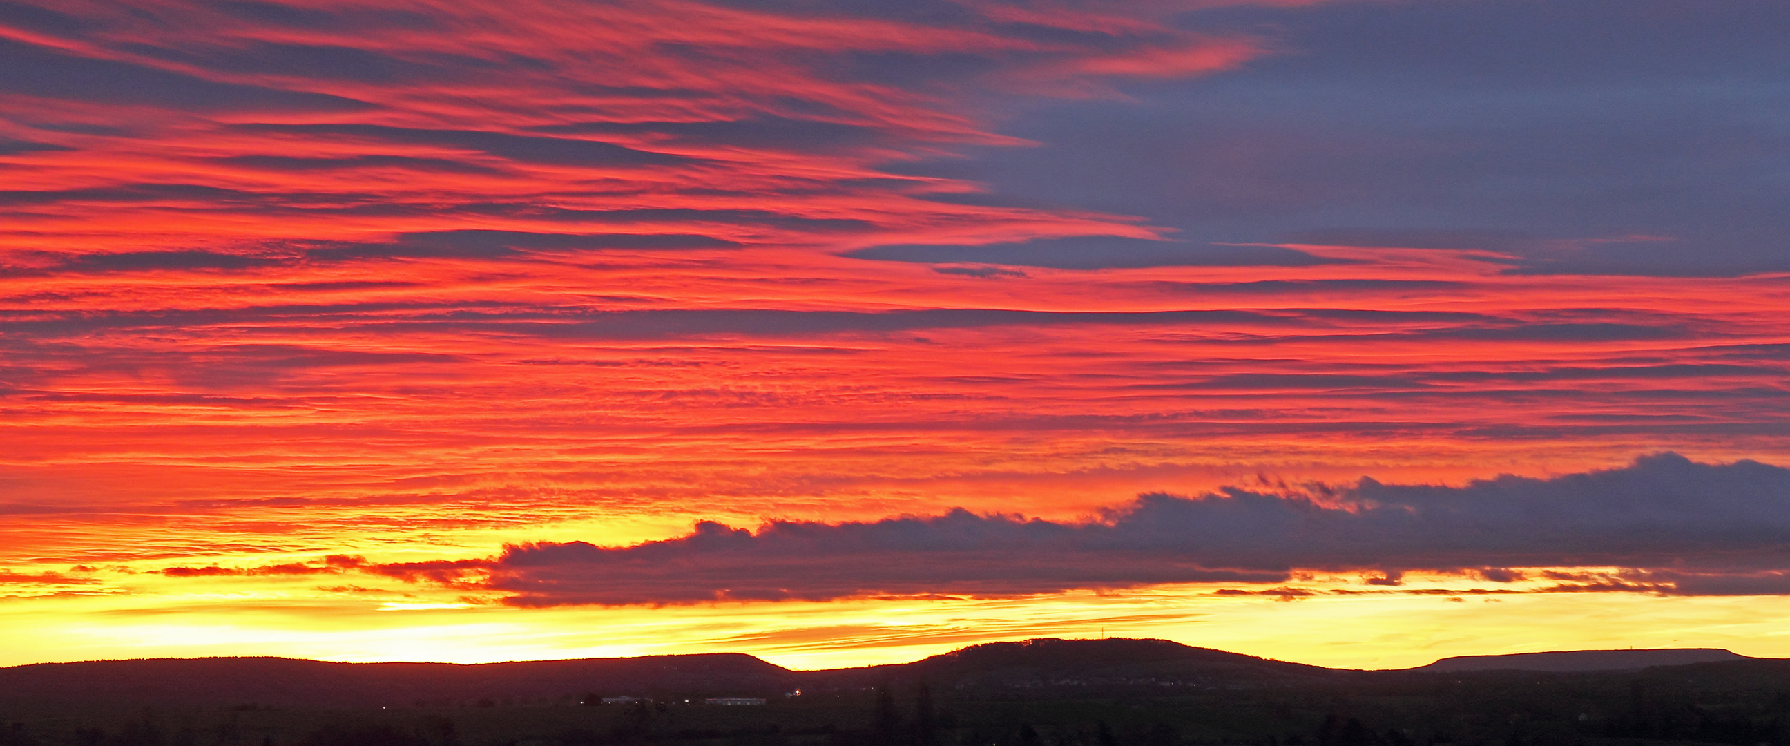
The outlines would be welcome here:
M 797 524 L 949 504 L 1067 521 L 1257 469 L 1459 481 L 1661 444 L 1783 451 L 1781 277 L 1534 277 L 1479 234 L 1217 247 L 1124 200 L 1010 200 L 949 168 L 1038 145 L 1011 134 L 1038 97 L 1223 75 L 1276 48 L 1172 20 L 1203 5 L 916 20 L 899 4 L 70 0 L 9 16 L 11 556 L 526 585 L 492 560 L 190 556 L 716 504 Z M 1255 165 L 1289 143 L 1273 134 L 1214 161 Z M 1276 184 L 1217 186 L 1248 213 L 1298 197 Z M 1514 562 L 1437 556 L 1491 581 Z M 1206 560 L 1171 569 L 1233 571 Z M 890 567 L 908 576 L 888 589 L 924 590 L 918 565 Z M 1036 567 L 1035 587 L 1149 580 L 1090 567 Z M 1754 571 L 1649 583 L 1779 581 Z M 695 592 L 879 585 L 827 583 Z M 662 594 L 623 590 L 576 598 Z

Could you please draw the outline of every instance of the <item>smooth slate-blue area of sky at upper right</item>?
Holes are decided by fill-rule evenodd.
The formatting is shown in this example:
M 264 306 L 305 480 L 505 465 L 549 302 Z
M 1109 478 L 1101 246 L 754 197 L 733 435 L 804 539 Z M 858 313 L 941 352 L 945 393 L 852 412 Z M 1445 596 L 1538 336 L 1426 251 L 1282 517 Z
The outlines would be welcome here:
M 972 200 L 1140 215 L 1198 259 L 1122 240 L 952 258 L 1298 263 L 1212 243 L 1301 242 L 1491 249 L 1522 258 L 1513 272 L 1790 270 L 1786 2 L 1373 0 L 1178 23 L 1278 52 L 1124 84 L 1129 100 L 1027 100 L 999 131 L 1040 147 L 895 168 L 986 182 Z

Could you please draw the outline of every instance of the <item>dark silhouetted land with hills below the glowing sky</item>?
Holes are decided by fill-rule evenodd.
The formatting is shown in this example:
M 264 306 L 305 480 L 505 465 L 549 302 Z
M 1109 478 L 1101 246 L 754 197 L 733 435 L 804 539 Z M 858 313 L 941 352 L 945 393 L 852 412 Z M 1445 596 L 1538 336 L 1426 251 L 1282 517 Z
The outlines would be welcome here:
M 1339 671 L 1164 640 L 840 671 L 743 655 L 50 664 L 0 669 L 0 746 L 1790 746 L 1790 660 L 1636 653 L 1511 660 L 1622 665 L 1552 673 Z

